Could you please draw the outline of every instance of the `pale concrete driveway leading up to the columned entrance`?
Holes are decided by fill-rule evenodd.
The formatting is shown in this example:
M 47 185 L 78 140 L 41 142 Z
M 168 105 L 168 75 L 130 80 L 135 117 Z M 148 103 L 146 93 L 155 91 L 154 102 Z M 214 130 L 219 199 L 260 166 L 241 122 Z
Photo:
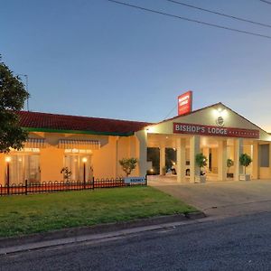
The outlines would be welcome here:
M 250 182 L 176 182 L 176 177 L 149 176 L 149 184 L 208 216 L 238 216 L 271 211 L 271 180 Z

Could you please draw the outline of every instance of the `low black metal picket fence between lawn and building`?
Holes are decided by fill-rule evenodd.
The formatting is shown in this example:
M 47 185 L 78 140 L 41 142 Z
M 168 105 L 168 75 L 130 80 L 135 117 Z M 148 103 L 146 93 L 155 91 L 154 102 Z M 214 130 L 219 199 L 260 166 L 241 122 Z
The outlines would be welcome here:
M 10 185 L 0 184 L 0 196 L 5 195 L 20 195 L 29 193 L 42 193 L 42 192 L 66 192 L 66 191 L 79 191 L 79 190 L 94 190 L 100 188 L 114 188 L 114 187 L 130 187 L 130 186 L 146 186 L 147 176 L 142 182 L 126 183 L 124 178 L 112 179 L 92 179 L 87 182 L 41 182 L 33 183 L 25 182 L 13 183 Z

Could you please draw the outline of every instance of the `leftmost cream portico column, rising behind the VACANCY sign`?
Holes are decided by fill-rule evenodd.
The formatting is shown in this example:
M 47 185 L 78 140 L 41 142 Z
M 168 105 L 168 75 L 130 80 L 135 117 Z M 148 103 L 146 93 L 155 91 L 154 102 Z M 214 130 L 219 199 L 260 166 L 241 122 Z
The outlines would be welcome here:
M 139 175 L 145 176 L 147 171 L 147 133 L 145 130 L 138 131 L 135 133 L 135 136 L 137 137 L 139 141 Z

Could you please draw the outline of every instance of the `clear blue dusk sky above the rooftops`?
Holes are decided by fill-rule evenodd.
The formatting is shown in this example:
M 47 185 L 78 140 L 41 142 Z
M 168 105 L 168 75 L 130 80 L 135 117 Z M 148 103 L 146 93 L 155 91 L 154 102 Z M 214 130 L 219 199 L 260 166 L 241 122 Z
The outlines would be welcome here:
M 165 0 L 123 1 L 271 35 Z M 259 0 L 182 2 L 271 24 Z M 194 109 L 221 101 L 271 131 L 271 40 L 107 0 L 1 0 L 0 33 L 3 61 L 29 76 L 33 111 L 155 122 L 192 89 Z

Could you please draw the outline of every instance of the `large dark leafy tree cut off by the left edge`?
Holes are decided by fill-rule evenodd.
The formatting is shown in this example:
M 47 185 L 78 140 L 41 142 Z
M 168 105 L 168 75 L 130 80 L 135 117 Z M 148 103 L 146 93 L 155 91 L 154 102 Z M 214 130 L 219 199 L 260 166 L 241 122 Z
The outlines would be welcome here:
M 28 134 L 20 126 L 16 112 L 23 109 L 28 97 L 23 82 L 2 62 L 0 55 L 0 153 L 23 148 Z

